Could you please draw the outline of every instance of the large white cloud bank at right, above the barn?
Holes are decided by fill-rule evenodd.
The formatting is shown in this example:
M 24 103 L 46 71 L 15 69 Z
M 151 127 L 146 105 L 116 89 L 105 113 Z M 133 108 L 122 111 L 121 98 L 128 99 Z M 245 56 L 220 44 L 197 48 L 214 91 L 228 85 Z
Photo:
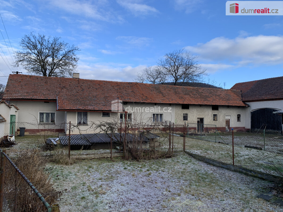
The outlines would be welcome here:
M 214 38 L 204 44 L 187 46 L 186 50 L 200 60 L 225 62 L 239 66 L 259 64 L 283 64 L 283 36 L 249 36 L 229 39 Z

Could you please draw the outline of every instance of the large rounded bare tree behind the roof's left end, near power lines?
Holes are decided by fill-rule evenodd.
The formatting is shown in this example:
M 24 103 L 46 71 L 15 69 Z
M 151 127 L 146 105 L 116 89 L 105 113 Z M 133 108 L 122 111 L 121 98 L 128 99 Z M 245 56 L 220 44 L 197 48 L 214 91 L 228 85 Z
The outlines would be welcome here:
M 16 51 L 14 66 L 22 65 L 28 73 L 66 77 L 77 68 L 79 58 L 75 51 L 80 51 L 79 47 L 69 46 L 60 37 L 30 33 L 22 38 L 20 46 L 22 51 Z

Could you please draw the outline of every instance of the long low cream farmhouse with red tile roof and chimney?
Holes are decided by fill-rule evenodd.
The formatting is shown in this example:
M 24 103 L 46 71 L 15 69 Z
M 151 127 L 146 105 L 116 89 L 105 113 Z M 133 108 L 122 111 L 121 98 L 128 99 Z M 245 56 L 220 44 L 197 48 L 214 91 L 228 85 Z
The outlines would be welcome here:
M 245 130 L 247 105 L 231 89 L 154 85 L 73 78 L 9 75 L 3 99 L 20 109 L 19 123 L 66 131 L 113 121 L 214 124 L 218 130 Z M 128 111 L 127 117 L 123 111 Z M 27 132 L 40 127 L 26 126 Z M 75 133 L 74 133 L 75 134 Z

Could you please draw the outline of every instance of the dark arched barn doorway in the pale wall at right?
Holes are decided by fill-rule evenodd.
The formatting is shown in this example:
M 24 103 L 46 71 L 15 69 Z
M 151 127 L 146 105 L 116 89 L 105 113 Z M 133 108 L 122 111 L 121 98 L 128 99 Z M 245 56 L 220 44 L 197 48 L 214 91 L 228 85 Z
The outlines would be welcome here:
M 251 112 L 251 130 L 252 131 L 275 131 L 282 132 L 282 116 L 274 114 L 278 111 L 270 108 L 258 109 Z

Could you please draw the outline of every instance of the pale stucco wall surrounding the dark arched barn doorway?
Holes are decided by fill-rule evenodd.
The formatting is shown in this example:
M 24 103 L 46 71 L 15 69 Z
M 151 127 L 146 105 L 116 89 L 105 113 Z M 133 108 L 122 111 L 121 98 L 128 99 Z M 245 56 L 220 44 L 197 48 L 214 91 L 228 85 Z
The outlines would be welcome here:
M 262 108 L 271 108 L 283 111 L 283 100 L 246 102 L 250 107 L 245 109 L 245 127 L 250 129 L 250 112 Z

